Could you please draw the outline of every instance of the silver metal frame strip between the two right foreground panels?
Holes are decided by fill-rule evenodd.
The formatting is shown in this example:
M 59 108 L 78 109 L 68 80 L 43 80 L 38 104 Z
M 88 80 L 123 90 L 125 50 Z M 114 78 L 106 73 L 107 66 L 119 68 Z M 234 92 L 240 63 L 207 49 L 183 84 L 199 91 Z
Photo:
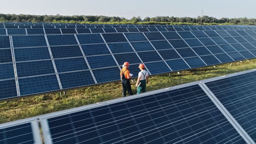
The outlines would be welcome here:
M 223 115 L 228 119 L 231 125 L 236 129 L 236 131 L 243 137 L 247 143 L 255 143 L 252 138 L 246 133 L 246 131 L 241 127 L 240 124 L 232 117 L 231 113 L 224 107 L 224 105 L 218 100 L 218 98 L 212 93 L 210 88 L 205 84 L 206 82 L 199 83 L 199 86 L 207 93 L 208 97 L 212 102 L 218 107 L 218 109 L 223 113 Z

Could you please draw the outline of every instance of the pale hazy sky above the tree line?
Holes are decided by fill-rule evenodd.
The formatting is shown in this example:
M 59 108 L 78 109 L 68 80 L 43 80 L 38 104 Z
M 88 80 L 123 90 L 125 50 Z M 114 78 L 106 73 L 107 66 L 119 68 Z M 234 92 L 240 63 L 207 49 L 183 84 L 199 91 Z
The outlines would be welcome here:
M 1 2 L 0 13 L 30 15 L 104 15 L 256 18 L 255 0 L 12 0 Z

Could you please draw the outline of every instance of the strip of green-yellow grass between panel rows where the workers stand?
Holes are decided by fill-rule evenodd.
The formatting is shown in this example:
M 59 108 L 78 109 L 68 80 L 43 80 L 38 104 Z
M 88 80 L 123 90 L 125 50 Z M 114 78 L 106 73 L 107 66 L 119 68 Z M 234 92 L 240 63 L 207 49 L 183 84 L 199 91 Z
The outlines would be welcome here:
M 216 68 L 205 67 L 185 70 L 181 71 L 181 74 L 173 72 L 150 76 L 147 91 L 254 69 L 256 67 L 255 62 L 256 59 L 252 59 L 250 61 L 243 61 L 242 63 L 234 62 L 232 66 L 228 63 L 217 65 Z M 136 93 L 135 83 L 133 83 L 132 89 L 133 93 Z M 113 82 L 105 85 L 74 89 L 67 91 L 65 95 L 60 95 L 60 92 L 57 92 L 35 97 L 0 101 L 0 123 L 120 98 L 121 91 L 121 83 Z

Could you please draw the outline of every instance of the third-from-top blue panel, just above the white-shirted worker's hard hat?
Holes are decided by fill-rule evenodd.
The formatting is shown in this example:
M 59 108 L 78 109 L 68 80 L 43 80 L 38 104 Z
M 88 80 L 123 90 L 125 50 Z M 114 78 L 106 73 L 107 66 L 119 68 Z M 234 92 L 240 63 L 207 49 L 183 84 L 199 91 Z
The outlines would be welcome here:
M 162 58 L 156 51 L 138 52 L 138 55 L 141 57 L 143 62 L 162 61 Z

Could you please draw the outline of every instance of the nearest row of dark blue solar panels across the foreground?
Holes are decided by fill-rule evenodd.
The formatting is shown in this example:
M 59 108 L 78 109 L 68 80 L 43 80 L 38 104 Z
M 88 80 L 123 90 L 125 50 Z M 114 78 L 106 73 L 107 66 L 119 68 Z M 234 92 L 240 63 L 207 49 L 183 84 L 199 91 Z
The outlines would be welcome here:
M 45 144 L 255 143 L 255 90 L 245 71 L 36 118 Z M 38 125 L 13 123 L 0 143 L 42 143 Z

